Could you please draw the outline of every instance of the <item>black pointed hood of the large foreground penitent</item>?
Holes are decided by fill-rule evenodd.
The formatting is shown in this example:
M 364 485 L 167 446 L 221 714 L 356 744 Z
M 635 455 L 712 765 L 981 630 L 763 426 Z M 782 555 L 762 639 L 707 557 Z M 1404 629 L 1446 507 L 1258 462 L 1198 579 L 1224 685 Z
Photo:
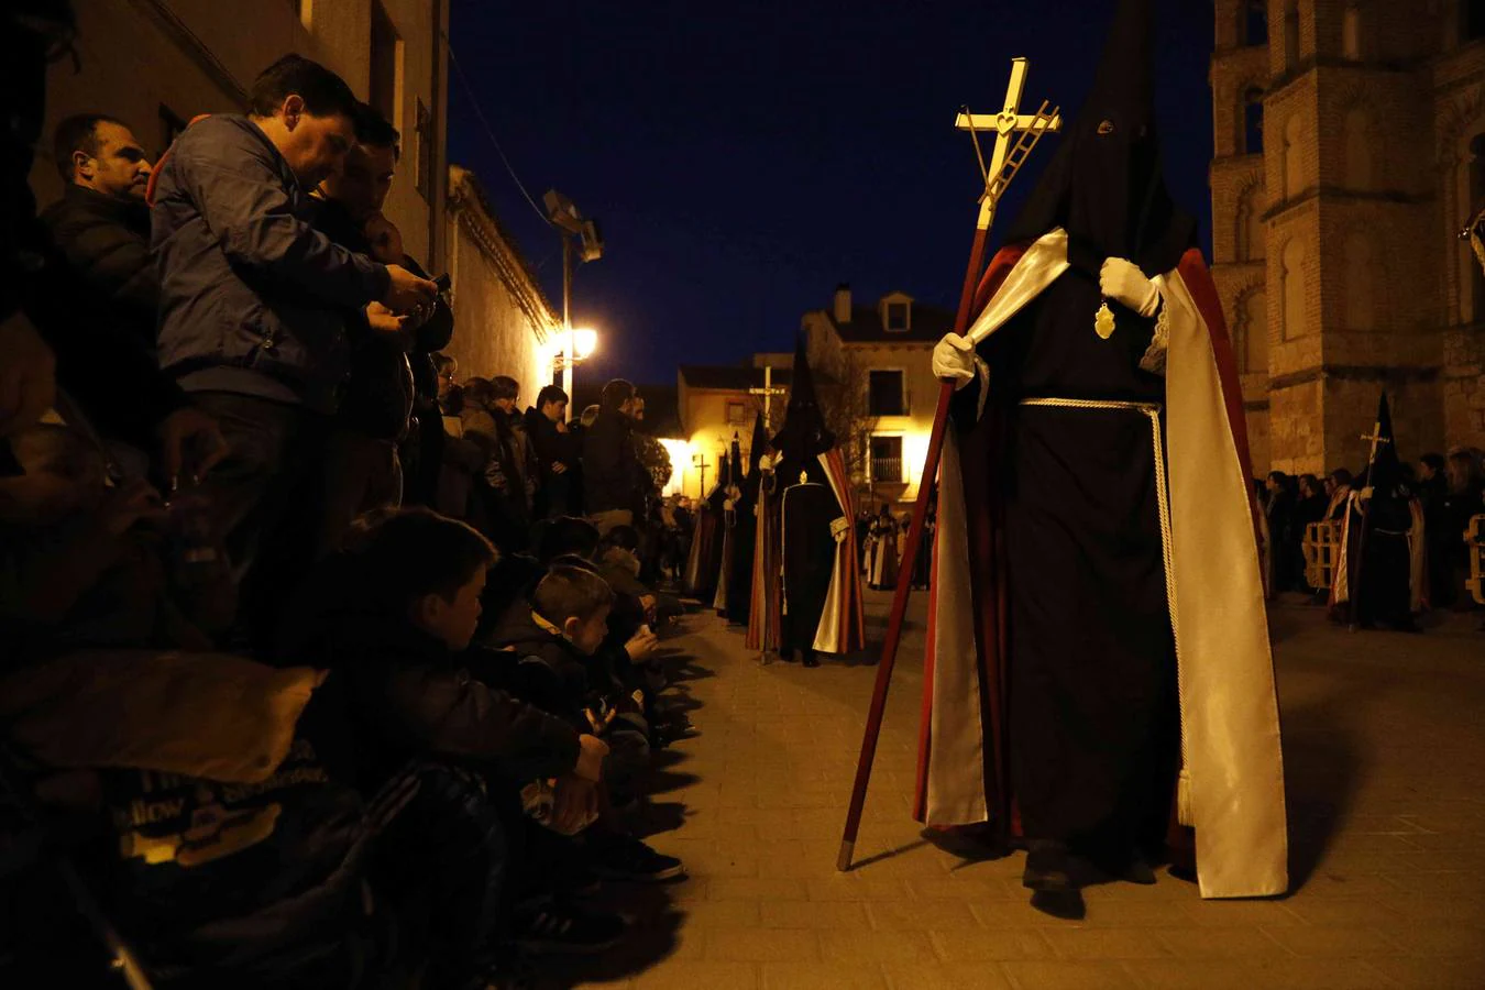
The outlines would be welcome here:
M 1195 243 L 1195 217 L 1170 199 L 1155 122 L 1154 0 L 1118 0 L 1093 91 L 1007 235 L 1068 232 L 1074 269 L 1111 257 L 1163 275 Z

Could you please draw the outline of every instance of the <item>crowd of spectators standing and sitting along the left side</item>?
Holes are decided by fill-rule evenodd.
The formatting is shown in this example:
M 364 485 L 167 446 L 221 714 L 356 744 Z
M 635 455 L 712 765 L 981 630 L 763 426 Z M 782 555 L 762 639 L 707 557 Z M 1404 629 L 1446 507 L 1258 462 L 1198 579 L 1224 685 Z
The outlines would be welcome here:
M 42 9 L 4 42 L 0 983 L 499 987 L 615 945 L 597 892 L 685 873 L 642 836 L 693 735 L 642 396 L 462 378 L 382 212 L 398 132 L 297 55 L 159 162 L 64 120 L 37 215 Z

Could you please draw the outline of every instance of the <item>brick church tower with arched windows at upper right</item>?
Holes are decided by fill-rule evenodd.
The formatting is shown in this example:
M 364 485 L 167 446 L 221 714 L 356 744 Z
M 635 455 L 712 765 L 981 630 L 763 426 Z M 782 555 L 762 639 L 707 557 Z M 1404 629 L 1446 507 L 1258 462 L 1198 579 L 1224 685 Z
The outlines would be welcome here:
M 1216 1 L 1213 275 L 1258 471 L 1354 469 L 1381 389 L 1403 457 L 1485 436 L 1455 236 L 1485 141 L 1454 147 L 1485 120 L 1451 123 L 1485 117 L 1476 37 L 1476 0 Z

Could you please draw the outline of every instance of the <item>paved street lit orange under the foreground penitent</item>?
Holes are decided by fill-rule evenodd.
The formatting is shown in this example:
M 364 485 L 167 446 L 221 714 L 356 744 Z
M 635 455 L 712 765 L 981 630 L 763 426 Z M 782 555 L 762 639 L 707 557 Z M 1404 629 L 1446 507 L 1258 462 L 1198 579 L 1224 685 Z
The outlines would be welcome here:
M 1485 987 L 1485 634 L 1347 634 L 1274 613 L 1295 892 L 1201 901 L 1087 891 L 1084 922 L 1034 911 L 1022 855 L 964 864 L 909 816 L 919 623 L 903 649 L 857 842 L 835 871 L 875 666 L 760 666 L 737 629 L 674 646 L 702 736 L 665 754 L 650 839 L 691 879 L 642 905 L 633 945 L 585 986 Z M 873 632 L 885 595 L 872 595 Z

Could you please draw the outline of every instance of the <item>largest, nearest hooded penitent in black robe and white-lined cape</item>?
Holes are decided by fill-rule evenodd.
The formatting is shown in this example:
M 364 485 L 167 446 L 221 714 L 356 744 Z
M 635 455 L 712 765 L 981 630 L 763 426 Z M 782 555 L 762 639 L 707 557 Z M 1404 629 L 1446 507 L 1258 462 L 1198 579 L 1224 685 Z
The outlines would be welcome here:
M 1151 852 L 1179 804 L 1204 896 L 1271 895 L 1283 772 L 1243 404 L 1161 174 L 1151 7 L 1118 4 L 980 283 L 979 376 L 940 469 L 916 810 L 1117 858 Z M 1103 298 L 1109 258 L 1154 283 L 1154 318 Z

